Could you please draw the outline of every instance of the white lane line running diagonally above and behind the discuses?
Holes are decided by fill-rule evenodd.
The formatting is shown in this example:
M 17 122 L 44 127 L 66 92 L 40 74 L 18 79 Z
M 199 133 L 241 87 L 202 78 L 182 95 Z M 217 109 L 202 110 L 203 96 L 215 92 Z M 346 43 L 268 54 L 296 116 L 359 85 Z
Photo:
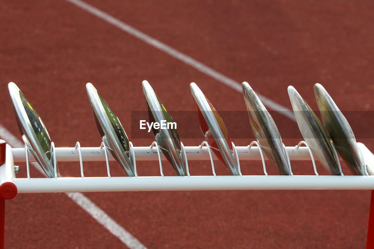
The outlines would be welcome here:
M 237 90 L 238 92 L 242 93 L 242 86 L 239 82 L 236 82 L 233 79 L 230 79 L 227 76 L 224 76 L 221 73 L 218 73 L 214 69 L 202 64 L 199 61 L 196 61 L 195 59 L 191 58 L 190 56 L 179 52 L 178 50 L 166 45 L 165 43 L 160 42 L 159 40 L 154 39 L 153 37 L 148 36 L 147 34 L 137 30 L 136 28 L 120 21 L 119 19 L 109 15 L 108 13 L 99 10 L 92 5 L 85 3 L 84 1 L 81 0 L 65 0 L 68 1 L 72 4 L 74 4 L 77 7 L 80 7 L 83 10 L 86 10 L 87 12 L 91 13 L 94 16 L 97 16 L 98 18 L 104 20 L 105 22 L 108 22 L 117 28 L 119 28 L 122 31 L 125 31 L 128 34 L 131 34 L 132 36 L 137 37 L 138 39 L 142 40 L 145 43 L 150 44 L 153 47 L 156 47 L 157 49 L 167 53 L 168 55 L 171 55 L 172 57 L 183 61 L 187 65 L 190 65 L 191 67 L 199 70 L 200 72 L 211 76 L 212 78 L 218 80 L 219 82 Z M 271 99 L 261 95 L 260 93 L 257 93 L 258 98 L 261 99 L 264 105 L 267 107 L 283 114 L 284 116 L 296 121 L 295 115 L 293 111 L 289 110 L 288 108 L 284 107 L 283 105 L 280 105 Z

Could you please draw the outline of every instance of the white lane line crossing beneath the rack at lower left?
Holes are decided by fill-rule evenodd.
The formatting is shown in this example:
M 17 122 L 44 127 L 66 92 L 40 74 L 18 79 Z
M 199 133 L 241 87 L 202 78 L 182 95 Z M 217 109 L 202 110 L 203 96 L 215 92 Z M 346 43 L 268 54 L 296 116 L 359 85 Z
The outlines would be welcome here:
M 4 126 L 0 124 L 0 137 L 4 139 L 13 148 L 22 148 L 25 146 L 18 138 L 9 132 Z M 40 173 L 46 176 L 39 163 L 30 163 Z M 146 247 L 132 236 L 128 231 L 121 227 L 116 221 L 110 218 L 107 213 L 101 210 L 95 203 L 88 199 L 82 193 L 65 193 L 71 200 L 77 203 L 83 210 L 92 216 L 99 224 L 103 225 L 111 234 L 116 236 L 126 246 L 131 249 L 146 249 Z

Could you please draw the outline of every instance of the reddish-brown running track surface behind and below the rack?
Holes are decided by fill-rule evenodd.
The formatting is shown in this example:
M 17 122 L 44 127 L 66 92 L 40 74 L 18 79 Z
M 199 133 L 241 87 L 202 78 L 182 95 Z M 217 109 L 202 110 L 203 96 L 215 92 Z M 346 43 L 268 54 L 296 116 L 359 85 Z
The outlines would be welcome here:
M 95 8 L 291 109 L 293 85 L 318 110 L 321 83 L 353 132 L 371 134 L 374 109 L 373 1 L 99 1 Z M 91 82 L 131 138 L 131 111 L 145 111 L 142 80 L 170 111 L 193 111 L 195 82 L 218 111 L 244 111 L 242 94 L 146 44 L 69 1 L 0 1 L 1 126 L 21 140 L 7 90 L 15 82 L 43 119 L 56 147 L 99 146 L 85 84 Z M 269 108 L 271 110 L 271 108 Z M 178 123 L 178 117 L 174 121 Z M 147 119 L 145 116 L 144 119 Z M 297 124 L 274 115 L 286 146 L 302 140 Z M 243 119 L 241 119 L 243 120 Z M 191 129 L 199 129 L 197 117 Z M 225 120 L 234 129 L 234 119 Z M 231 128 L 230 128 L 231 127 Z M 249 119 L 248 119 L 248 129 Z M 200 132 L 199 130 L 197 130 Z M 0 134 L 4 138 L 6 134 Z M 357 139 L 374 151 L 373 137 Z M 183 139 L 199 145 L 198 138 Z M 239 146 L 251 139 L 234 138 Z M 313 174 L 310 162 L 291 162 Z M 210 174 L 190 162 L 191 175 Z M 241 162 L 261 174 L 260 162 Z M 269 172 L 276 174 L 267 164 Z M 18 177 L 25 176 L 21 165 Z M 85 163 L 85 176 L 103 176 L 103 163 Z M 125 173 L 113 162 L 112 175 Z M 158 163 L 138 162 L 139 175 L 158 175 Z M 319 172 L 326 174 L 321 165 Z M 59 163 L 64 176 L 79 164 Z M 216 166 L 217 174 L 227 174 Z M 349 174 L 343 165 L 343 172 Z M 164 164 L 165 175 L 174 175 Z M 31 168 L 31 176 L 41 176 Z M 364 248 L 370 191 L 171 191 L 85 193 L 147 248 Z M 65 194 L 18 194 L 6 202 L 6 248 L 126 248 Z

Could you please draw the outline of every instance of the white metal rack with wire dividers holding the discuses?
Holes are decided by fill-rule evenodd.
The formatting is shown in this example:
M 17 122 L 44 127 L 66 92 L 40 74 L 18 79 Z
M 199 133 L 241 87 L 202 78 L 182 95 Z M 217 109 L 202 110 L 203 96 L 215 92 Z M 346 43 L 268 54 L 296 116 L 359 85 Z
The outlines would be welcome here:
M 10 148 L 7 145 L 6 163 L 0 167 L 0 181 L 15 184 L 18 193 L 55 193 L 55 192 L 87 192 L 87 191 L 162 191 L 162 190 L 311 190 L 311 189 L 341 189 L 341 190 L 370 190 L 374 189 L 374 176 L 340 176 L 318 175 L 315 167 L 313 154 L 309 147 L 300 146 L 286 147 L 289 160 L 310 160 L 315 175 L 267 175 L 266 163 L 260 147 L 233 146 L 234 156 L 240 161 L 262 160 L 264 175 L 242 175 L 239 176 L 217 176 L 214 169 L 214 153 L 208 149 L 204 141 L 200 146 L 183 146 L 186 153 L 186 165 L 188 171 L 188 160 L 210 160 L 212 173 L 209 176 L 163 176 L 162 150 L 158 149 L 156 142 L 150 147 L 133 147 L 131 144 L 131 156 L 134 158 L 135 167 L 137 161 L 158 160 L 160 164 L 159 176 L 135 176 L 135 177 L 112 177 L 110 175 L 109 161 L 114 160 L 108 148 L 103 144 L 101 147 L 80 147 L 77 142 L 75 147 L 55 148 L 53 156 L 57 162 L 80 162 L 81 177 L 56 177 L 55 178 L 30 178 L 29 162 L 35 162 L 29 150 L 25 148 Z M 206 145 L 206 146 L 204 146 Z M 306 145 L 306 144 L 305 144 Z M 364 160 L 373 165 L 374 155 L 358 143 Z M 28 152 L 28 153 L 25 153 Z M 107 164 L 108 175 L 103 177 L 85 177 L 85 170 L 89 170 L 88 161 L 103 161 Z M 18 162 L 27 163 L 27 178 L 16 178 L 14 164 Z M 167 162 L 164 163 L 168 164 Z M 239 164 L 240 165 L 240 164 Z M 268 163 L 269 165 L 269 163 Z M 290 169 L 291 169 L 290 164 Z M 240 168 L 239 168 L 240 170 Z M 292 172 L 292 170 L 291 170 Z

